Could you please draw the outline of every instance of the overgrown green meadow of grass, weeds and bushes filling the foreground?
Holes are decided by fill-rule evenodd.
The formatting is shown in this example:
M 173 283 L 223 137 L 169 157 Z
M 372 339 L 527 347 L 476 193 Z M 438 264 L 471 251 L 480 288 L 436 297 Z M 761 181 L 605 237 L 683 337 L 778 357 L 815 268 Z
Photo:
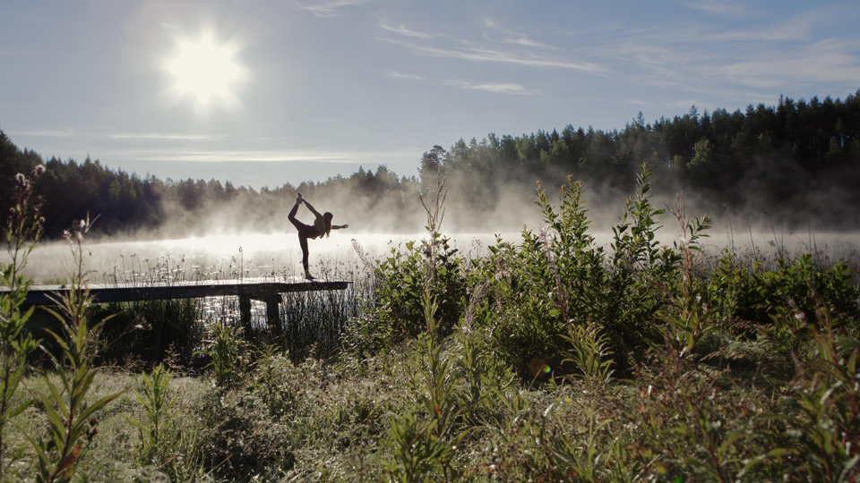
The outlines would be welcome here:
M 424 240 L 331 263 L 351 289 L 285 296 L 284 338 L 243 334 L 232 301 L 90 304 L 86 221 L 62 281 L 82 290 L 43 322 L 21 303 L 39 250 L 24 184 L 0 308 L 2 479 L 860 479 L 860 253 L 787 250 L 776 231 L 701 250 L 710 220 L 681 196 L 653 206 L 651 183 L 643 165 L 608 245 L 568 180 L 538 190 L 545 228 L 466 256 L 441 230 L 440 178 Z

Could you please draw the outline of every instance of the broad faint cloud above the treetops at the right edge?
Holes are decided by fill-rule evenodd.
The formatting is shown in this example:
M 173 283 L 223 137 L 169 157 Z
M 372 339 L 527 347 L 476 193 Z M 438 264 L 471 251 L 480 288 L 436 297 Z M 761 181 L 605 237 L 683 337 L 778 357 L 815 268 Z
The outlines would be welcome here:
M 856 86 L 860 35 L 831 38 L 830 22 L 836 21 L 832 15 L 811 11 L 744 30 L 712 26 L 631 30 L 607 38 L 596 52 L 617 64 L 615 72 L 624 72 L 621 75 L 628 80 L 691 91 L 711 89 L 710 94 L 721 86 L 732 86 L 735 95 L 738 89 L 819 82 Z

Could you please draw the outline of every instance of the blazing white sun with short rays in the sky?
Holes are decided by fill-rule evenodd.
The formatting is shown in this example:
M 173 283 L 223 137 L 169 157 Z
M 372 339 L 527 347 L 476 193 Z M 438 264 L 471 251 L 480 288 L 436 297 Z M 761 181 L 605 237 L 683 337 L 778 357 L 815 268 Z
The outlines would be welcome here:
M 230 95 L 230 84 L 242 74 L 233 47 L 216 44 L 211 35 L 202 35 L 196 42 L 182 39 L 176 47 L 167 70 L 175 77 L 180 95 L 192 94 L 202 104 Z

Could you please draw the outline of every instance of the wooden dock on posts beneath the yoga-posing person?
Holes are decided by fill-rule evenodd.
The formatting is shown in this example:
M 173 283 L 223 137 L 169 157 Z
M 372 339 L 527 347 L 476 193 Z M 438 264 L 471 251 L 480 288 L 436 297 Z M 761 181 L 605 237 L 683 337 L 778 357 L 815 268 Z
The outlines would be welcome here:
M 251 301 L 266 302 L 266 319 L 270 327 L 280 327 L 280 294 L 288 292 L 318 292 L 345 290 L 348 282 L 275 282 L 271 279 L 201 280 L 151 285 L 88 284 L 95 303 L 160 301 L 169 299 L 202 299 L 204 297 L 234 296 L 239 298 L 239 311 L 246 334 L 251 331 Z M 27 305 L 56 305 L 70 288 L 64 285 L 32 285 L 24 301 Z M 9 292 L 0 287 L 0 293 Z

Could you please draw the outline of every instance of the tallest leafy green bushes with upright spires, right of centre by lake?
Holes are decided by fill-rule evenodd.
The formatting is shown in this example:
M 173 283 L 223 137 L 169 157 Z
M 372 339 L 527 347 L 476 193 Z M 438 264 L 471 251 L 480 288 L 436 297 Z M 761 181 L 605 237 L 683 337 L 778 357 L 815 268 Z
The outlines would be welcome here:
M 636 198 L 614 228 L 611 254 L 588 233 L 581 183 L 568 178 L 557 210 L 538 186 L 545 231 L 525 230 L 519 246 L 499 240 L 475 263 L 469 283 L 489 287 L 477 318 L 492 327 L 515 367 L 536 360 L 557 367 L 566 350 L 561 336 L 589 321 L 599 321 L 622 367 L 629 352 L 656 339 L 649 318 L 665 303 L 679 258 L 655 240 L 654 217 L 662 210 L 650 205 L 649 174 L 642 165 Z

